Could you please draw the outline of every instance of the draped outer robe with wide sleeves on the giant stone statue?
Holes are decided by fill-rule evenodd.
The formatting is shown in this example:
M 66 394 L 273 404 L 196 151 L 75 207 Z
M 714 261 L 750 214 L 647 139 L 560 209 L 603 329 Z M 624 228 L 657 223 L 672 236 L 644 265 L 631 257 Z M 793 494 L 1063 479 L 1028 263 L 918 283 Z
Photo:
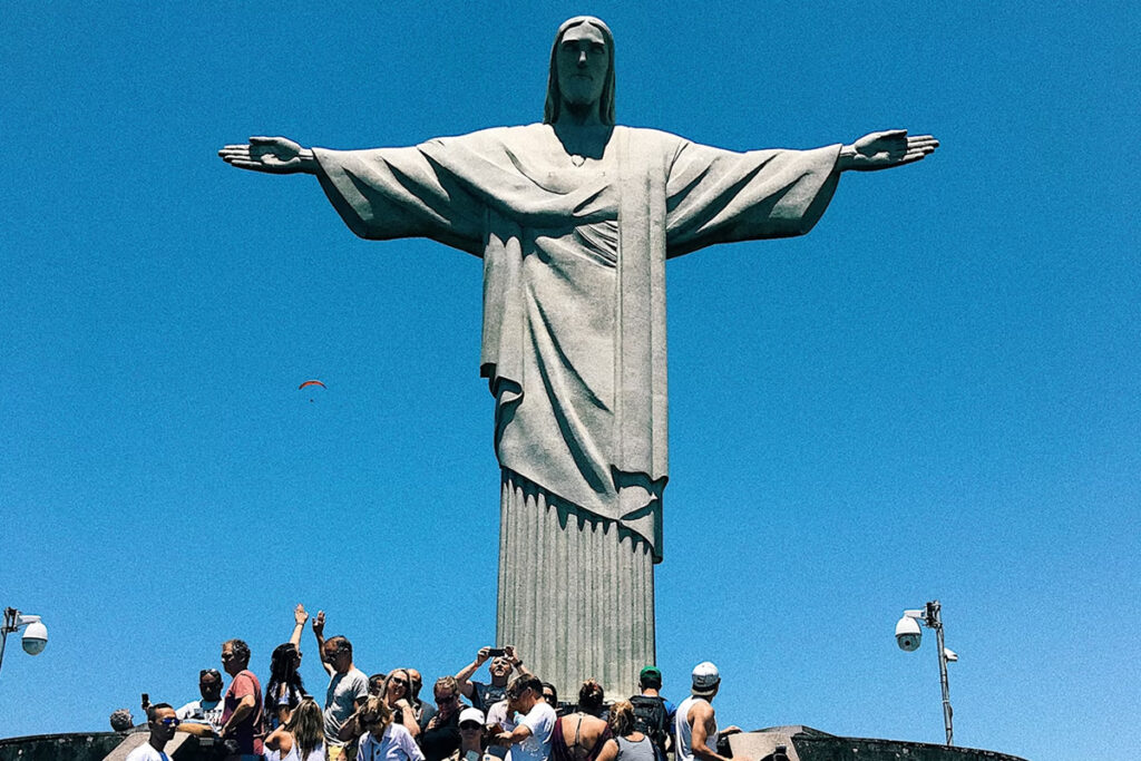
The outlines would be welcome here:
M 483 258 L 480 372 L 501 467 L 657 562 L 665 259 L 807 233 L 835 189 L 839 149 L 735 153 L 616 127 L 599 160 L 575 162 L 550 126 L 531 124 L 314 153 L 361 237 L 428 237 Z

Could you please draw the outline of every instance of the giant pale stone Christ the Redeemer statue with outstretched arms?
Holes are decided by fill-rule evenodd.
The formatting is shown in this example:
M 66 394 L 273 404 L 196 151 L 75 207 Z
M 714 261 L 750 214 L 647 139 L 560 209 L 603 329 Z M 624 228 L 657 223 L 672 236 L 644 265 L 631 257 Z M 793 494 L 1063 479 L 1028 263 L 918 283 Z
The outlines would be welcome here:
M 480 372 L 502 468 L 497 640 L 560 690 L 596 677 L 630 695 L 655 662 L 665 260 L 802 235 L 841 172 L 936 147 L 895 130 L 735 153 L 617 127 L 614 38 L 576 17 L 555 38 L 541 124 L 371 151 L 253 137 L 220 155 L 316 175 L 361 237 L 428 237 L 483 258 Z

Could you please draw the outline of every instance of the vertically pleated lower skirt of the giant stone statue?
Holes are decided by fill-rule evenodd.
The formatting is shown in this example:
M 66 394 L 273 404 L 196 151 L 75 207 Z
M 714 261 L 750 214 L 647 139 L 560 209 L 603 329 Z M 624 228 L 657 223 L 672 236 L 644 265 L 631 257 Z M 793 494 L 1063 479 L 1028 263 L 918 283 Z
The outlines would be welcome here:
M 655 663 L 648 545 L 504 470 L 496 643 L 515 645 L 563 701 L 591 677 L 607 697 L 636 695 Z

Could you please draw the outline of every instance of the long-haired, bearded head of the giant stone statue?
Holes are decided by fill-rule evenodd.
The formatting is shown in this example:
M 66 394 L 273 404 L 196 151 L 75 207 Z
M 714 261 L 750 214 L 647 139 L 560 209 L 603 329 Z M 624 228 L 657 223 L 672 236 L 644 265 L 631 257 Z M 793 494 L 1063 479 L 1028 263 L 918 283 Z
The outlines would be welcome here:
M 583 64 L 588 71 L 570 72 L 564 62 L 560 73 L 559 52 L 564 49 L 564 38 L 574 30 L 566 41 L 577 42 L 581 48 L 592 48 L 590 52 L 597 50 L 599 42 L 605 48 L 600 51 L 605 56 L 605 72 L 598 72 L 596 78 L 592 66 Z M 594 46 L 591 46 L 592 38 Z M 600 38 L 600 39 L 598 39 Z M 564 54 L 566 55 L 566 54 Z M 563 80 L 563 81 L 560 81 Z M 610 29 L 600 19 L 593 16 L 575 16 L 568 18 L 559 25 L 559 31 L 555 35 L 555 44 L 551 46 L 551 68 L 547 80 L 547 105 L 543 108 L 543 123 L 553 124 L 558 121 L 565 102 L 576 105 L 592 105 L 585 103 L 597 98 L 598 116 L 604 124 L 614 123 L 614 34 Z

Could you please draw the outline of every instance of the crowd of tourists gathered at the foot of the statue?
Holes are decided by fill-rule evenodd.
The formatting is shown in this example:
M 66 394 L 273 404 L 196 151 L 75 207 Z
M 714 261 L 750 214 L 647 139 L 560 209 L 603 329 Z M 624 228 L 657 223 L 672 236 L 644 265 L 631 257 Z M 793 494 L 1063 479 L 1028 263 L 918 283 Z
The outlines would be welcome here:
M 249 646 L 232 639 L 221 646 L 225 691 L 221 673 L 203 669 L 201 699 L 176 710 L 144 697 L 149 737 L 128 761 L 168 761 L 164 748 L 179 728 L 220 738 L 218 755 L 228 761 L 726 761 L 718 738 L 739 731 L 718 730 L 711 701 L 720 674 L 709 662 L 694 669 L 690 696 L 677 707 L 661 695 L 653 665 L 629 699 L 608 702 L 588 679 L 577 702 L 560 703 L 513 647 L 484 647 L 454 677 L 437 679 L 428 703 L 415 669 L 361 671 L 346 637 L 325 639 L 324 612 L 311 621 L 329 674 L 318 704 L 298 672 L 309 615 L 298 605 L 293 618 L 289 640 L 270 655 L 265 689 L 250 671 Z M 476 681 L 484 664 L 491 679 Z

